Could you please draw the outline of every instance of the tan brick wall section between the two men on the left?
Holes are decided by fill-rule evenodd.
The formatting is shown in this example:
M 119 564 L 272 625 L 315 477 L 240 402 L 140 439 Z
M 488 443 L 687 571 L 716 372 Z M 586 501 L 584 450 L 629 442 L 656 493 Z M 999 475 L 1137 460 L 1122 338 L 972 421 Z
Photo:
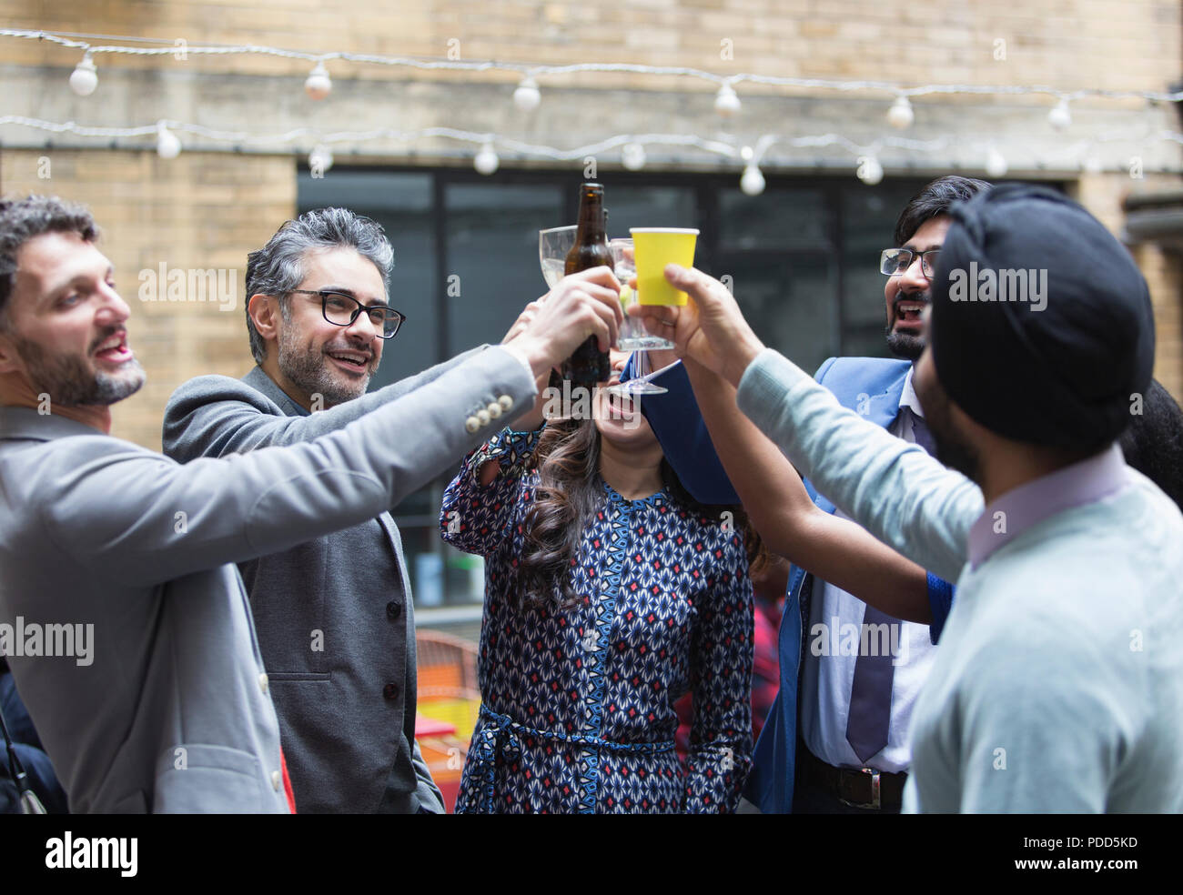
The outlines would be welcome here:
M 49 158 L 50 177 L 38 177 Z M 296 212 L 290 156 L 110 150 L 4 150 L 6 195 L 50 193 L 84 202 L 102 227 L 99 247 L 115 266 L 131 307 L 131 348 L 148 382 L 114 410 L 112 434 L 160 450 L 164 404 L 186 380 L 208 372 L 241 376 L 253 367 L 243 311 L 246 253 Z M 233 311 L 208 301 L 141 300 L 140 271 L 237 271 Z M 146 280 L 147 281 L 147 280 Z

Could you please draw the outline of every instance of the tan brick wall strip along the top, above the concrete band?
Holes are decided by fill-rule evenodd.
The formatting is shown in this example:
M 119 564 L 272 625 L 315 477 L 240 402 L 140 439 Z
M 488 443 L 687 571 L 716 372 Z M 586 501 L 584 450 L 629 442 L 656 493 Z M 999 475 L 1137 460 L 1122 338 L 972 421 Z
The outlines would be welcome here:
M 190 44 L 437 57 L 455 38 L 465 59 L 602 60 L 719 73 L 1114 90 L 1162 90 L 1178 77 L 1181 41 L 1177 0 L 1033 0 L 1017 6 L 996 0 L 2 0 L 0 21 L 15 28 L 185 38 Z M 720 59 L 724 39 L 732 41 L 729 60 Z M 1006 41 L 1004 60 L 995 59 L 996 40 Z M 73 51 L 32 41 L 2 47 L 7 61 L 77 61 Z M 99 61 L 157 64 L 128 57 Z M 265 57 L 190 64 L 252 73 L 308 67 Z M 353 70 L 348 63 L 332 66 Z M 356 71 L 366 78 L 450 77 L 374 66 Z M 581 76 L 578 83 L 629 86 L 645 79 L 601 74 Z M 679 82 L 672 89 L 709 87 Z

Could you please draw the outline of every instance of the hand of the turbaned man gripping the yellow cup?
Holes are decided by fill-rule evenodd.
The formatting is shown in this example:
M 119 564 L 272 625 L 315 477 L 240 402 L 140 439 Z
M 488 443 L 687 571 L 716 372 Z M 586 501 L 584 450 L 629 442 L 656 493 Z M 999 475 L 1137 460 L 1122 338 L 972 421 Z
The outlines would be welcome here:
M 738 385 L 748 364 L 764 349 L 739 305 L 726 286 L 693 267 L 670 264 L 665 275 L 690 296 L 690 301 L 681 307 L 634 305 L 628 312 L 641 317 L 649 332 L 672 339 L 679 357 L 689 357 Z

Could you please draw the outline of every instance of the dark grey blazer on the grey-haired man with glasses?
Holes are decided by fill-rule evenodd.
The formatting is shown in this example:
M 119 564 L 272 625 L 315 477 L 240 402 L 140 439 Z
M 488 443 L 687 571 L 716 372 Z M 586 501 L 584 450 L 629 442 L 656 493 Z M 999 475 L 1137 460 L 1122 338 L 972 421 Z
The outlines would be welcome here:
M 243 380 L 200 376 L 164 410 L 164 453 L 187 463 L 335 432 L 476 357 L 309 414 L 256 367 Z M 400 442 L 435 446 L 408 413 Z M 411 433 L 414 433 L 412 435 Z M 433 456 L 434 459 L 434 456 Z M 399 528 L 383 512 L 282 553 L 239 564 L 271 679 L 296 806 L 302 812 L 444 812 L 415 741 L 415 624 Z M 393 773 L 392 773 L 393 770 Z

